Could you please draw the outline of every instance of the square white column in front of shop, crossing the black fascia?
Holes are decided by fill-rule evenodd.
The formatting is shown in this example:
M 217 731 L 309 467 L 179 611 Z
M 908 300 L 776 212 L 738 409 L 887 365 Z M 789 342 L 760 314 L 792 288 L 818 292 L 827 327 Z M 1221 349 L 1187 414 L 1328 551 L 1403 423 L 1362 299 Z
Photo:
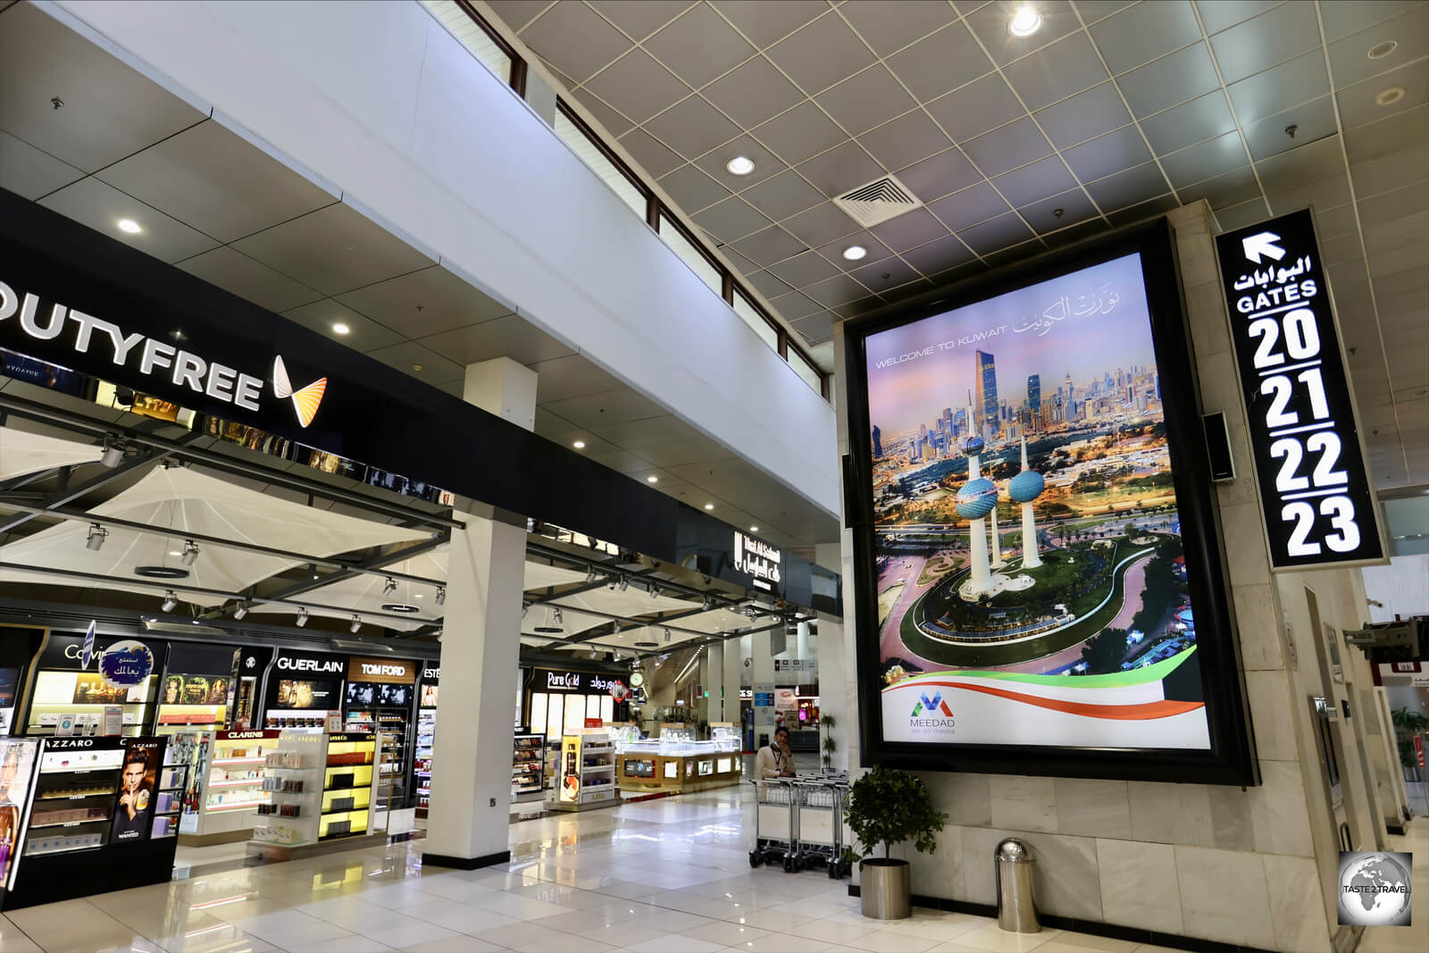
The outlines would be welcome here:
M 536 374 L 500 357 L 466 369 L 463 396 L 530 427 Z M 452 530 L 442 667 L 447 692 L 433 746 L 426 863 L 480 867 L 510 859 L 512 712 L 520 669 L 526 527 L 456 513 Z

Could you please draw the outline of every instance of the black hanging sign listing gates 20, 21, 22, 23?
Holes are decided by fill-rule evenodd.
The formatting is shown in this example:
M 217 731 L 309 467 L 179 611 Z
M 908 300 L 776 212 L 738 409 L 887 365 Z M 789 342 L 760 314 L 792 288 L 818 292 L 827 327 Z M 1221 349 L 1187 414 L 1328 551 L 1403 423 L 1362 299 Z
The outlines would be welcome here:
M 1309 210 L 1216 237 L 1275 569 L 1385 560 Z

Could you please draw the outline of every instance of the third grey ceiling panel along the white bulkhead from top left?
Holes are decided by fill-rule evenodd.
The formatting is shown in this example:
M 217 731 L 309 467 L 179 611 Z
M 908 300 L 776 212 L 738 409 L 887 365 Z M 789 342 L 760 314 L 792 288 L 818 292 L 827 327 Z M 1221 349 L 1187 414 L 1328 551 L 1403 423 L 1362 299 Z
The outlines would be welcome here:
M 233 247 L 324 294 L 436 264 L 344 203 L 284 221 Z

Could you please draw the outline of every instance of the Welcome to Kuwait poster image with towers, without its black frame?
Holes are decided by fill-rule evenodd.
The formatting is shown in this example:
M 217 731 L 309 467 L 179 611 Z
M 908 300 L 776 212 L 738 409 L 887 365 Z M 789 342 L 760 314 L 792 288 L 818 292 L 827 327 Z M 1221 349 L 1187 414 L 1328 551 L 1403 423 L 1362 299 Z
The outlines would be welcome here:
M 865 360 L 885 740 L 1209 749 L 1140 256 Z

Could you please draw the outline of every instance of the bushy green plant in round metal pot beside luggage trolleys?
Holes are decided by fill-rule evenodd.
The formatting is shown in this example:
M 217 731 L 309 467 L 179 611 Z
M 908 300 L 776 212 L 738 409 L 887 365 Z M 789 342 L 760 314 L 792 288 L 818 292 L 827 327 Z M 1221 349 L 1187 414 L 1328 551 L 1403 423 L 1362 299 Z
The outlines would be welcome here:
M 947 814 L 933 807 L 923 780 L 877 764 L 849 787 L 849 830 L 863 846 L 860 896 L 863 916 L 900 920 L 912 913 L 912 882 L 906 860 L 893 859 L 893 844 L 912 840 L 920 853 L 937 849 L 935 836 Z M 879 846 L 883 856 L 875 856 Z

